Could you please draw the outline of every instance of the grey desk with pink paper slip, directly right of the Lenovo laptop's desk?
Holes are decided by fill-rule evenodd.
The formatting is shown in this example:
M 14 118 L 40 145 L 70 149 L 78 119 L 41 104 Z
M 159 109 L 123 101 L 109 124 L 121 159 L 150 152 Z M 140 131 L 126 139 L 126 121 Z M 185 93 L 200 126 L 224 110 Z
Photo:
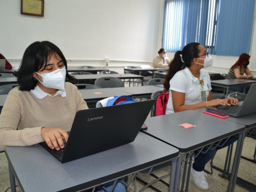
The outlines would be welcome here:
M 180 124 L 189 123 L 195 125 L 195 127 L 185 129 L 180 127 Z M 199 113 L 195 110 L 182 111 L 163 116 L 155 116 L 148 118 L 145 121 L 148 129 L 142 132 L 157 138 L 165 143 L 172 145 L 179 149 L 180 157 L 177 163 L 177 172 L 174 185 L 174 191 L 183 191 L 185 184 L 185 176 L 188 167 L 186 191 L 188 191 L 188 181 L 190 176 L 190 168 L 192 162 L 192 154 L 195 157 L 203 150 L 209 148 L 216 148 L 221 140 L 227 140 L 229 137 L 236 135 L 238 136 L 238 147 L 236 148 L 234 166 L 232 167 L 231 179 L 229 181 L 228 192 L 233 191 L 232 188 L 235 186 L 236 175 L 238 166 L 238 158 L 240 144 L 243 142 L 244 125 L 237 124 L 231 121 L 226 121 L 218 117 L 209 116 L 204 113 Z M 216 144 L 216 142 L 218 142 Z M 182 158 L 186 156 L 184 174 L 182 178 L 181 188 L 180 185 L 180 171 Z M 188 159 L 189 166 L 188 166 Z M 239 162 L 238 162 L 239 164 Z M 214 187 L 214 186 L 212 186 Z

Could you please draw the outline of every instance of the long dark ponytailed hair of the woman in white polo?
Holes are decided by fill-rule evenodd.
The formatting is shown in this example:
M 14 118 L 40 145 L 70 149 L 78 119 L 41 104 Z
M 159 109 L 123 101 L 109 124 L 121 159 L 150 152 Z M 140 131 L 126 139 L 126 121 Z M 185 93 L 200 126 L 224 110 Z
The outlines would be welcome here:
M 182 51 L 177 51 L 174 55 L 173 60 L 169 64 L 169 69 L 167 71 L 167 74 L 164 78 L 164 89 L 167 91 L 170 88 L 170 80 L 172 77 L 180 71 L 181 69 L 184 69 L 185 67 L 190 67 L 191 62 L 194 58 L 198 57 L 199 49 L 198 46 L 199 43 L 189 43 L 185 47 L 183 47 Z M 181 56 L 182 55 L 182 60 Z

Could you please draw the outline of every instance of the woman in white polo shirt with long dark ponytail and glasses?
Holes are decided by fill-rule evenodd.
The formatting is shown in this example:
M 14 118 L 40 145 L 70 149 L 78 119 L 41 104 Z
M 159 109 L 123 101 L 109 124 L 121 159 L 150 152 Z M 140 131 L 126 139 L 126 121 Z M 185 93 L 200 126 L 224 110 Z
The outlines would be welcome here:
M 237 99 L 230 97 L 227 99 L 212 99 L 210 76 L 206 71 L 201 70 L 212 66 L 212 64 L 211 55 L 199 43 L 189 43 L 182 51 L 175 53 L 164 80 L 164 89 L 170 90 L 165 114 L 208 106 L 238 104 Z M 230 137 L 221 148 L 236 140 L 237 136 Z M 218 149 L 220 147 L 209 150 L 205 154 L 200 153 L 195 158 L 191 173 L 194 183 L 201 189 L 209 188 L 204 166 L 214 157 Z

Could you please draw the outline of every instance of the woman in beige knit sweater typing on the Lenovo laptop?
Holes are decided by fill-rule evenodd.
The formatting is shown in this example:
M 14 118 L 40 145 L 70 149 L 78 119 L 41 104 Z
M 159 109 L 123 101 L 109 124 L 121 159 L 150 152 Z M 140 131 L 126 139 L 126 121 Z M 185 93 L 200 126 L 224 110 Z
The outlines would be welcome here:
M 19 86 L 9 92 L 0 115 L 0 151 L 43 141 L 52 149 L 64 147 L 76 111 L 88 109 L 77 87 L 65 83 L 73 79 L 66 70 L 67 61 L 55 44 L 37 41 L 28 46 L 17 74 Z M 119 182 L 113 191 L 125 187 Z

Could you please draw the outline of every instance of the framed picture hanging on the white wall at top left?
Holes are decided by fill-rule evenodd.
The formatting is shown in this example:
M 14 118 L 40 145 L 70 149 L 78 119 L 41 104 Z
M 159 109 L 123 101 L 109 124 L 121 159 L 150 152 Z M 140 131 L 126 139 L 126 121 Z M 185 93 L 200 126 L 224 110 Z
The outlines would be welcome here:
M 21 14 L 44 16 L 44 0 L 21 0 Z

